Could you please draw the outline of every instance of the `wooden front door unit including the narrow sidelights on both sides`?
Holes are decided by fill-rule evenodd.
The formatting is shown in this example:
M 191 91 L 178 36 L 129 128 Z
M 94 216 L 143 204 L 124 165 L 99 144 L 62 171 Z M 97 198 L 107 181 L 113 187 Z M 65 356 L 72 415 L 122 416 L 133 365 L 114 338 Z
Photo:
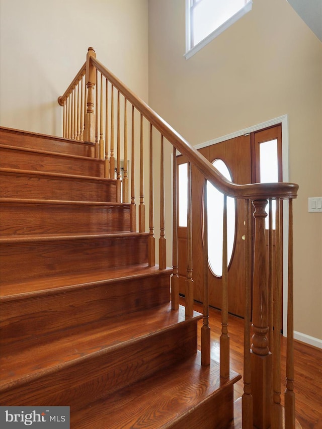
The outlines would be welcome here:
M 261 149 L 262 143 L 272 143 L 276 146 L 274 159 L 264 152 L 262 160 L 268 165 L 269 178 L 262 177 L 261 171 Z M 282 181 L 282 130 L 281 125 L 275 125 L 263 130 L 252 132 L 251 134 L 229 139 L 211 146 L 200 149 L 200 152 L 210 161 L 221 159 L 227 166 L 232 182 L 236 184 L 259 183 L 259 182 L 281 182 Z M 274 152 L 274 150 L 273 150 Z M 267 159 L 266 159 L 267 157 Z M 187 162 L 184 156 L 177 157 L 178 169 Z M 263 164 L 262 164 L 263 166 Z M 274 168 L 275 175 L 272 175 Z M 264 168 L 264 166 L 263 166 Z M 267 169 L 267 168 L 266 168 Z M 264 174 L 264 176 L 266 176 Z M 184 181 L 183 181 L 184 182 Z M 179 200 L 182 189 L 179 183 Z M 184 188 L 184 187 L 183 187 Z M 187 194 L 186 189 L 183 191 Z M 209 201 L 208 201 L 209 204 Z M 179 204 L 179 215 L 180 215 Z M 203 176 L 192 167 L 192 240 L 193 240 L 193 281 L 194 299 L 202 302 L 203 284 Z M 187 209 L 181 211 L 184 220 Z M 245 205 L 244 201 L 236 200 L 235 207 L 235 234 L 232 256 L 228 266 L 228 311 L 231 314 L 244 316 L 245 307 L 245 267 L 244 267 L 244 245 L 243 236 L 245 234 Z M 273 214 L 273 216 L 275 216 Z M 208 225 L 212 219 L 208 216 Z M 187 275 L 187 228 L 184 221 L 178 222 L 178 250 L 179 250 L 179 277 L 180 293 L 185 295 L 185 279 Z M 274 228 L 274 226 L 273 226 Z M 268 231 L 267 231 L 268 234 Z M 273 241 L 275 231 L 273 230 Z M 214 241 L 210 238 L 210 241 Z M 209 244 L 209 243 L 208 243 Z M 210 244 L 213 244 L 212 242 Z M 222 243 L 220 243 L 222 244 Z M 282 271 L 280 273 L 282 276 Z M 208 265 L 209 302 L 216 308 L 221 308 L 222 278 L 216 275 Z

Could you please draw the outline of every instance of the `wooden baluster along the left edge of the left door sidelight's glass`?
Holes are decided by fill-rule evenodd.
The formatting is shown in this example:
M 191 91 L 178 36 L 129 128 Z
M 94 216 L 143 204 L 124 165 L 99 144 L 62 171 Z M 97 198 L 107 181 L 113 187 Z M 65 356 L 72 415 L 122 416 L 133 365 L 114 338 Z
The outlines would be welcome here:
M 179 308 L 179 274 L 178 274 L 178 217 L 177 217 L 177 154 L 173 148 L 173 221 L 172 221 L 172 265 L 173 275 L 171 278 L 171 307 L 173 310 Z

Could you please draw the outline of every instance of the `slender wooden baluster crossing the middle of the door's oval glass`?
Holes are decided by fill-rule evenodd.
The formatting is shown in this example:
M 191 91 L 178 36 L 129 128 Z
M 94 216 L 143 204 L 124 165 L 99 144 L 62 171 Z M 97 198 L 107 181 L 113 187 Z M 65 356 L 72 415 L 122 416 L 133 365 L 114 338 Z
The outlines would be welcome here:
M 228 257 L 227 257 L 227 196 L 223 196 L 222 226 L 222 307 L 220 335 L 220 377 L 229 377 L 229 335 L 228 335 Z

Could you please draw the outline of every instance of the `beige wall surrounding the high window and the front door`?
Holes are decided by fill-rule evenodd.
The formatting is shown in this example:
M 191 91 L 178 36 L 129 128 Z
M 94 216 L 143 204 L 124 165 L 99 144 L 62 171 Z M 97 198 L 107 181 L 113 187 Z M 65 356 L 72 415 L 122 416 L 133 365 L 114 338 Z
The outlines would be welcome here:
M 300 186 L 294 329 L 321 339 L 322 214 L 307 212 L 307 198 L 322 195 L 321 42 L 286 0 L 254 0 L 249 14 L 186 60 L 185 0 L 148 7 L 149 103 L 188 141 L 288 115 L 290 181 Z

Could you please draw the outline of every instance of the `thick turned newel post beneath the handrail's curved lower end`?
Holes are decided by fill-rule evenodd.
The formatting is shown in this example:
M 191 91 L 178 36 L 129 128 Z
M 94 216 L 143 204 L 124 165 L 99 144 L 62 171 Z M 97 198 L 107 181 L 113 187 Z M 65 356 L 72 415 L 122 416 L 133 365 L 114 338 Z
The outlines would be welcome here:
M 270 427 L 272 355 L 268 347 L 268 278 L 265 241 L 265 207 L 267 200 L 255 200 L 255 246 L 253 282 L 253 336 L 252 336 L 252 395 L 254 425 L 259 429 Z

